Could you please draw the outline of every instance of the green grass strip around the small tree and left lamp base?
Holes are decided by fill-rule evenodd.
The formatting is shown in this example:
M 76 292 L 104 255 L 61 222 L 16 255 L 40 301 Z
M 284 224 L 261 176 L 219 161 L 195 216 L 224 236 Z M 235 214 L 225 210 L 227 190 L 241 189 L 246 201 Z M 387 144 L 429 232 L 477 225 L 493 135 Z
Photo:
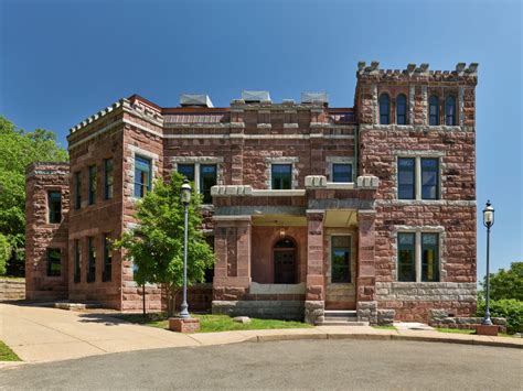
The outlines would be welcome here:
M 313 327 L 302 322 L 258 319 L 250 318 L 250 323 L 242 324 L 233 322 L 227 315 L 195 315 L 200 319 L 200 333 L 230 332 L 230 330 L 256 330 L 267 328 L 310 328 Z M 166 314 L 148 314 L 146 318 L 141 314 L 114 315 L 119 319 L 138 323 L 147 326 L 168 328 L 168 317 Z

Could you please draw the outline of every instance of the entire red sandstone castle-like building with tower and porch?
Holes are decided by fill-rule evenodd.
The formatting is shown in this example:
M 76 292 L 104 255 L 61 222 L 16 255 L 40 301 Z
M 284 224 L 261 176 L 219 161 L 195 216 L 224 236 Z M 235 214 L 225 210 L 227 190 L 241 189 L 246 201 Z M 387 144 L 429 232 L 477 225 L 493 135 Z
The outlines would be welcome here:
M 71 129 L 70 164 L 28 167 L 28 298 L 141 308 L 132 264 L 108 242 L 152 181 L 179 171 L 204 195 L 216 254 L 192 309 L 311 323 L 334 309 L 371 323 L 474 313 L 477 64 L 360 63 L 356 77 L 353 108 L 323 94 L 244 91 L 226 108 L 135 95 Z M 159 289 L 146 294 L 161 307 Z

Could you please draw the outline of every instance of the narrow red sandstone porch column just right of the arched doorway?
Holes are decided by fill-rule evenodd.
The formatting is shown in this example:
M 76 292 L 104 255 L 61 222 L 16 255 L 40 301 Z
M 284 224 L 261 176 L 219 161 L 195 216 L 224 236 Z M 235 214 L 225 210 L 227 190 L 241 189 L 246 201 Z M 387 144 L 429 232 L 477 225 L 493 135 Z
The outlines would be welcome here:
M 314 324 L 323 321 L 325 280 L 323 272 L 324 210 L 307 210 L 307 290 L 305 319 Z

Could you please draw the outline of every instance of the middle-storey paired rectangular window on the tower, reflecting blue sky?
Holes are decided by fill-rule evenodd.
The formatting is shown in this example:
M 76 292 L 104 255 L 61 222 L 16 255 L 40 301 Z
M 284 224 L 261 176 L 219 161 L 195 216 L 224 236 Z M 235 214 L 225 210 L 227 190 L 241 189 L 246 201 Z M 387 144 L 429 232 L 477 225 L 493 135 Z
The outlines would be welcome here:
M 439 159 L 398 158 L 398 199 L 439 199 Z

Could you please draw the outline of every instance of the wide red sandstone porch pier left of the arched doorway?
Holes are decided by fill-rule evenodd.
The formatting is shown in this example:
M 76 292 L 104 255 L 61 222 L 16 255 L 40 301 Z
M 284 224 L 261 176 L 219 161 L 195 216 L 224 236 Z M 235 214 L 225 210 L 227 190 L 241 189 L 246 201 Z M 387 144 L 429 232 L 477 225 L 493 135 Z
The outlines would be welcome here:
M 214 224 L 213 313 L 227 313 L 250 285 L 250 216 L 214 216 Z

